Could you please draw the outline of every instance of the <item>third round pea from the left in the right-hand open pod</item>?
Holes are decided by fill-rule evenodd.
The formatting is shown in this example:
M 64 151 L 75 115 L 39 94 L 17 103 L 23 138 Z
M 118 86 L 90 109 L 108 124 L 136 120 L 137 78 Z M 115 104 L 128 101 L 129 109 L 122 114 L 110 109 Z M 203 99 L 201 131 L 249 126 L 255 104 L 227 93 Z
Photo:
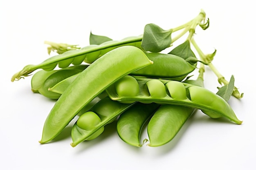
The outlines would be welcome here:
M 186 88 L 181 82 L 170 81 L 165 84 L 170 95 L 174 99 L 187 99 L 186 97 Z

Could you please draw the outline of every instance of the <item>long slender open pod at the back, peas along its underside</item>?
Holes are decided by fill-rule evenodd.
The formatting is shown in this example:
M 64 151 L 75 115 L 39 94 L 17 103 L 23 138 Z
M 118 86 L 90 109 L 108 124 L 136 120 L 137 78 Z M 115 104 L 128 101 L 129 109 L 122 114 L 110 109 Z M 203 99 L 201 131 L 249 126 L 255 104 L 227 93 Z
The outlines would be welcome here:
M 132 45 L 132 46 L 141 48 L 141 40 L 142 40 L 142 35 L 137 37 L 128 37 L 120 41 L 114 41 L 114 40 L 108 41 L 100 45 L 92 44 L 78 50 L 70 50 L 63 54 L 50 57 L 40 64 L 37 64 L 37 65 L 30 64 L 25 66 L 21 71 L 19 71 L 18 73 L 15 73 L 11 77 L 11 82 L 13 82 L 14 80 L 19 80 L 21 77 L 27 77 L 29 76 L 30 73 L 32 73 L 33 71 L 39 68 L 42 68 L 46 71 L 51 71 L 57 65 L 60 68 L 65 68 L 70 64 L 79 65 L 82 62 L 91 64 L 92 62 L 97 60 L 99 57 L 104 55 L 105 53 L 111 51 L 112 49 L 116 49 L 120 46 Z

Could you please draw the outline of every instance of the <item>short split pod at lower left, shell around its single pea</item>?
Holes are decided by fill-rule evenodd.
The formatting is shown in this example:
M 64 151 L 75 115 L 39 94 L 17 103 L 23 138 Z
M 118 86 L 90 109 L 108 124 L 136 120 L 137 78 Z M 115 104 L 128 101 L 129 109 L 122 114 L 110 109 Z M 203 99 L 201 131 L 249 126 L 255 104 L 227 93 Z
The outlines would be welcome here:
M 99 101 L 90 109 L 93 113 L 96 113 L 99 116 L 101 121 L 94 125 L 92 128 L 88 129 L 83 127 L 91 126 L 92 122 L 84 121 L 84 123 L 79 122 L 78 124 L 78 119 L 71 131 L 73 141 L 71 146 L 75 147 L 82 141 L 95 139 L 100 135 L 101 131 L 99 132 L 99 130 L 102 130 L 103 127 L 107 124 L 112 123 L 112 121 L 114 121 L 121 113 L 130 108 L 132 105 L 133 104 L 122 104 L 120 102 L 113 101 L 109 97 L 101 99 L 101 101 Z

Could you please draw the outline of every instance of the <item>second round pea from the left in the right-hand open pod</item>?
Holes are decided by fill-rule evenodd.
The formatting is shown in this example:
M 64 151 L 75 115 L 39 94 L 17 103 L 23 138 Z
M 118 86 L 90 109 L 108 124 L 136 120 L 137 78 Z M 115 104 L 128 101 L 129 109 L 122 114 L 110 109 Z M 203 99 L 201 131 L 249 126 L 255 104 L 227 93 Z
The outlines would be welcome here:
M 166 97 L 167 95 L 164 84 L 158 79 L 149 80 L 146 86 L 151 97 Z

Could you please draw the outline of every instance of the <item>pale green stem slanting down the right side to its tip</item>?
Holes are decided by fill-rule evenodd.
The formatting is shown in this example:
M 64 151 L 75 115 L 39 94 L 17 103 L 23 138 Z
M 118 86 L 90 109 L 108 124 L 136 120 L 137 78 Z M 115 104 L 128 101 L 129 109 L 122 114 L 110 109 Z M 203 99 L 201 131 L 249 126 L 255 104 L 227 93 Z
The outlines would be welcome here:
M 196 44 L 195 40 L 192 38 L 191 39 L 191 43 L 193 44 L 193 46 L 195 47 L 195 50 L 198 52 L 199 56 L 200 56 L 200 59 L 203 60 L 204 62 L 210 62 L 209 63 L 209 68 L 213 71 L 213 73 L 218 77 L 218 82 L 222 85 L 227 85 L 229 84 L 229 81 L 227 81 L 225 79 L 225 77 L 218 71 L 218 69 L 212 64 L 212 60 L 213 60 L 213 57 L 215 56 L 216 54 L 216 50 L 211 53 L 211 54 L 204 54 L 202 52 L 202 50 L 199 48 L 198 44 Z M 233 90 L 233 93 L 232 95 L 238 99 L 242 98 L 243 97 L 243 93 L 240 93 L 238 91 L 238 88 L 234 86 L 234 90 Z

